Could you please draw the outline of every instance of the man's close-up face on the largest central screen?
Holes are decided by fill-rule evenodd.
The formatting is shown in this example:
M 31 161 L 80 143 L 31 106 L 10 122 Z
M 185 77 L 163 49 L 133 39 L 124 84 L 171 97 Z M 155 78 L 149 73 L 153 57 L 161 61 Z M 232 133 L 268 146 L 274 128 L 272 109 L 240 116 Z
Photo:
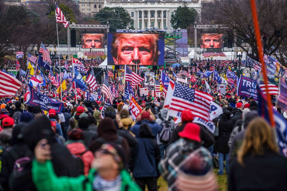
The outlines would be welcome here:
M 113 34 L 111 53 L 115 65 L 157 65 L 158 39 L 157 34 Z

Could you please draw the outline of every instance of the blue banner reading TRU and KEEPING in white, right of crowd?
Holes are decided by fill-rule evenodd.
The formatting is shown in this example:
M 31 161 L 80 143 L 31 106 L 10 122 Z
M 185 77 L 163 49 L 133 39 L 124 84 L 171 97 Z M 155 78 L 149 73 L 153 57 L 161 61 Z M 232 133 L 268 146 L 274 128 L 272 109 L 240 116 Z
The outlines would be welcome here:
M 253 96 L 253 99 L 257 101 L 258 91 L 256 87 L 257 83 L 255 80 L 241 75 L 237 85 L 237 95 L 246 96 L 247 98 Z

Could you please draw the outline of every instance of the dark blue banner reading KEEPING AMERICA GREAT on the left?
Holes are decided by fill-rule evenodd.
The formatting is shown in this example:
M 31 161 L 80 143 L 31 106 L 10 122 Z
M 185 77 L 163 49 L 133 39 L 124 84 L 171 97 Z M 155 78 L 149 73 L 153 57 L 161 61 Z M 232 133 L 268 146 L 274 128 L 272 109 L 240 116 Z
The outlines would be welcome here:
M 61 113 L 64 107 L 62 102 L 58 102 L 54 99 L 47 97 L 41 93 L 38 93 L 32 86 L 29 85 L 30 98 L 25 104 L 32 106 L 40 106 L 42 110 L 49 111 L 51 109 L 56 110 L 56 113 Z

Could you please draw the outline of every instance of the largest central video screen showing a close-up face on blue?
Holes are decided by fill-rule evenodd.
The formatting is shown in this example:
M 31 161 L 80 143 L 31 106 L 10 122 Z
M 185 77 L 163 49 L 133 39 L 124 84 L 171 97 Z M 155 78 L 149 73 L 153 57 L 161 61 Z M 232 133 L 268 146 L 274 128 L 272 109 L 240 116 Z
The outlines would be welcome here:
M 108 33 L 108 65 L 164 65 L 164 33 Z

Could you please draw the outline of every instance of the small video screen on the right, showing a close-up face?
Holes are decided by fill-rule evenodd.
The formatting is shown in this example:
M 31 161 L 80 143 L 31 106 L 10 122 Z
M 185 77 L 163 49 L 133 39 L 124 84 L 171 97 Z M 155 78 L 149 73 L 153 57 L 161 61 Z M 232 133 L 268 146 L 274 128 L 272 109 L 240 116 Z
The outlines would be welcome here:
M 201 33 L 200 48 L 223 48 L 223 34 Z

